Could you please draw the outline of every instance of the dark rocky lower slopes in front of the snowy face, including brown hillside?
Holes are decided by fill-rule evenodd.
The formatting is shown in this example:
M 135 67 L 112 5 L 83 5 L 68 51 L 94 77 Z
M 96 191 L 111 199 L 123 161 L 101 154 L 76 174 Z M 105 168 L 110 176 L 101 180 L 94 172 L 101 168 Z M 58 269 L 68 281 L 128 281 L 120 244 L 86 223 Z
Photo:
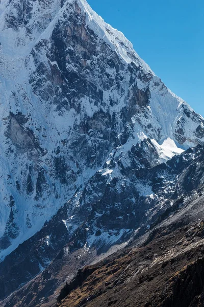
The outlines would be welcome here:
M 143 141 L 138 147 L 146 148 L 146 144 Z M 194 306 L 189 301 L 201 295 L 204 286 L 203 155 L 204 147 L 198 146 L 166 164 L 135 169 L 131 186 L 126 184 L 119 195 L 115 191 L 119 186 L 122 189 L 130 168 L 120 168 L 116 186 L 110 177 L 104 187 L 93 177 L 87 189 L 94 185 L 99 188 L 90 194 L 85 188 L 84 196 L 75 195 L 2 262 L 2 298 L 20 282 L 24 286 L 1 305 L 56 306 L 58 299 L 58 306 L 107 306 L 110 298 L 115 306 L 135 306 L 135 301 L 137 306 L 147 306 L 147 300 L 149 307 L 160 303 L 173 307 L 175 301 L 177 306 L 181 301 L 183 307 Z M 97 176 L 103 175 L 98 172 Z M 138 181 L 143 191 L 147 182 L 151 184 L 151 196 L 136 193 L 133 182 Z M 109 192 L 104 192 L 99 201 L 96 195 L 91 201 L 91 195 L 102 187 Z M 70 210 L 74 214 L 71 217 Z M 93 262 L 98 263 L 82 269 Z M 38 274 L 40 268 L 44 270 Z

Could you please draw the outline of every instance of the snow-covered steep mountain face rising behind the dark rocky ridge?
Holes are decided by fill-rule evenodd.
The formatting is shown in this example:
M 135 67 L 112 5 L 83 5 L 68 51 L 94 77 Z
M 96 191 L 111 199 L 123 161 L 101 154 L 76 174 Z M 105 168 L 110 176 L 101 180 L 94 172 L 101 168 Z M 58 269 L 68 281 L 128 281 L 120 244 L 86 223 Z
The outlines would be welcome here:
M 0 42 L 2 258 L 113 155 L 149 138 L 158 164 L 204 140 L 202 117 L 85 0 L 1 1 Z

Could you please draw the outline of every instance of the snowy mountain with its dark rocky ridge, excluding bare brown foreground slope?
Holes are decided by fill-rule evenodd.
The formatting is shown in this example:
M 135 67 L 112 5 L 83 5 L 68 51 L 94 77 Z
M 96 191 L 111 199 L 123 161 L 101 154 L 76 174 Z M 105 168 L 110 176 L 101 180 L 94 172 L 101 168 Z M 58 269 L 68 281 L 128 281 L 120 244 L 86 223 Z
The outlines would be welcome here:
M 85 0 L 3 0 L 0 20 L 3 299 L 58 254 L 88 263 L 182 205 L 204 120 Z

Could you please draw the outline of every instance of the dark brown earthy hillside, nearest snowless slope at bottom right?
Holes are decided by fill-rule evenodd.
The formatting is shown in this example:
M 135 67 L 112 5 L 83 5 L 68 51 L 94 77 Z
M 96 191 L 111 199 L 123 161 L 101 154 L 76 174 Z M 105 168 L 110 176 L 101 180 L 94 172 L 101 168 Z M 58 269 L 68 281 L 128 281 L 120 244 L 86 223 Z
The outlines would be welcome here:
M 83 268 L 57 306 L 203 306 L 203 230 L 203 221 L 160 228 L 143 246 Z

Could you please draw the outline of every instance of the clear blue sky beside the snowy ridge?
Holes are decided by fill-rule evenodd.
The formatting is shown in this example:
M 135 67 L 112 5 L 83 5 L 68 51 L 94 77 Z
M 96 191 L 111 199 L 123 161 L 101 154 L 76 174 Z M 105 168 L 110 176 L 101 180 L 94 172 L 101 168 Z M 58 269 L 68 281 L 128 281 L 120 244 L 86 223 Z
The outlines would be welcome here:
M 88 0 L 169 89 L 204 117 L 204 0 Z

